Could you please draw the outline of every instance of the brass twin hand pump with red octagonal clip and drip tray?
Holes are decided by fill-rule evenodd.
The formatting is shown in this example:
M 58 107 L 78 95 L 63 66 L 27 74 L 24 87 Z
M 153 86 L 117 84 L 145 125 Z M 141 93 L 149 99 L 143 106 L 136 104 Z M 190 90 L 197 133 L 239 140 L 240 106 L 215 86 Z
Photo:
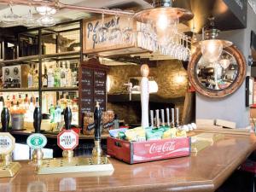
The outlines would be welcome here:
M 56 174 L 56 173 L 77 173 L 77 172 L 98 172 L 98 175 L 111 175 L 113 166 L 107 157 L 102 157 L 102 150 L 99 147 L 100 135 L 97 135 L 96 149 L 93 157 L 74 157 L 73 148 L 79 144 L 79 135 L 70 130 L 72 112 L 69 107 L 64 111 L 65 130 L 58 135 L 58 145 L 63 149 L 63 158 L 43 160 L 42 166 L 38 169 L 38 174 Z M 96 131 L 99 133 L 100 126 L 96 121 Z M 100 154 L 98 156 L 97 154 Z M 96 161 L 97 160 L 97 161 Z M 93 173 L 94 174 L 94 173 Z M 90 174 L 89 174 L 90 175 Z

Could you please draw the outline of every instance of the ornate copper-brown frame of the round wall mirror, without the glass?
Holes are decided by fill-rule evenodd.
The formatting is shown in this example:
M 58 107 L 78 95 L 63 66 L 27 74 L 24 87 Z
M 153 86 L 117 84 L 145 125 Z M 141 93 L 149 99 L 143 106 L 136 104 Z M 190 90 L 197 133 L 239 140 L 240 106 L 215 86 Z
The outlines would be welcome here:
M 195 88 L 196 92 L 200 93 L 203 96 L 208 96 L 212 98 L 224 97 L 229 96 L 230 94 L 234 93 L 243 83 L 244 79 L 246 78 L 247 74 L 247 62 L 244 56 L 241 54 L 241 51 L 237 49 L 234 45 L 224 48 L 227 52 L 234 56 L 236 59 L 236 63 L 238 66 L 236 81 L 234 81 L 230 86 L 224 90 L 210 90 L 206 87 L 203 87 L 200 82 L 198 81 L 197 74 L 196 74 L 196 67 L 198 61 L 201 59 L 201 49 L 197 48 L 195 53 L 191 55 L 189 66 L 188 66 L 188 75 L 189 75 L 189 82 Z

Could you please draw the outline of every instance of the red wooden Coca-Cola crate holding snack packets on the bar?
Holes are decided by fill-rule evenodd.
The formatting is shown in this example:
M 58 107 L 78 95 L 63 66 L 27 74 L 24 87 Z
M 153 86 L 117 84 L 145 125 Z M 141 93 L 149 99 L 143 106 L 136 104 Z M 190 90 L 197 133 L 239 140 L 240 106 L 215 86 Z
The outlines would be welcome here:
M 190 137 L 128 142 L 108 137 L 108 155 L 130 164 L 189 156 Z

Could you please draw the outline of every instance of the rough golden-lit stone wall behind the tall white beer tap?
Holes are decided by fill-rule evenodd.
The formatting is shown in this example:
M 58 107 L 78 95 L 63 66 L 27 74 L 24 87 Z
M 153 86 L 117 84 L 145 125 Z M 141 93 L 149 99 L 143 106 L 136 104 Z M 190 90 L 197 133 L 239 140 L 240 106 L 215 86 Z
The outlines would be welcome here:
M 110 80 L 108 94 L 127 94 L 127 87 L 124 84 L 129 81 L 129 78 L 140 76 L 140 66 L 126 65 L 110 67 L 108 72 Z M 149 77 L 152 77 L 158 84 L 159 90 L 154 95 L 180 108 L 180 119 L 182 119 L 183 101 L 188 84 L 188 75 L 182 63 L 177 60 L 158 61 L 155 67 L 150 67 Z M 125 119 L 125 123 L 127 124 L 140 123 L 140 102 L 111 101 L 108 102 L 108 109 L 113 109 L 115 113 L 119 114 L 119 119 Z

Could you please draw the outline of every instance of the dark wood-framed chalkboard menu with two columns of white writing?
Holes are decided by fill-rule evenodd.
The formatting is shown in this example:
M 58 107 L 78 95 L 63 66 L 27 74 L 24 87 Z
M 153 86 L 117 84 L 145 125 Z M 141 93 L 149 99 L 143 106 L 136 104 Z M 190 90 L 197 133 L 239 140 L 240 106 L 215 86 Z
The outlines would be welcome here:
M 108 67 L 97 59 L 90 59 L 80 65 L 79 70 L 79 109 L 80 117 L 86 112 L 94 112 L 96 102 L 102 111 L 107 107 L 107 73 Z

